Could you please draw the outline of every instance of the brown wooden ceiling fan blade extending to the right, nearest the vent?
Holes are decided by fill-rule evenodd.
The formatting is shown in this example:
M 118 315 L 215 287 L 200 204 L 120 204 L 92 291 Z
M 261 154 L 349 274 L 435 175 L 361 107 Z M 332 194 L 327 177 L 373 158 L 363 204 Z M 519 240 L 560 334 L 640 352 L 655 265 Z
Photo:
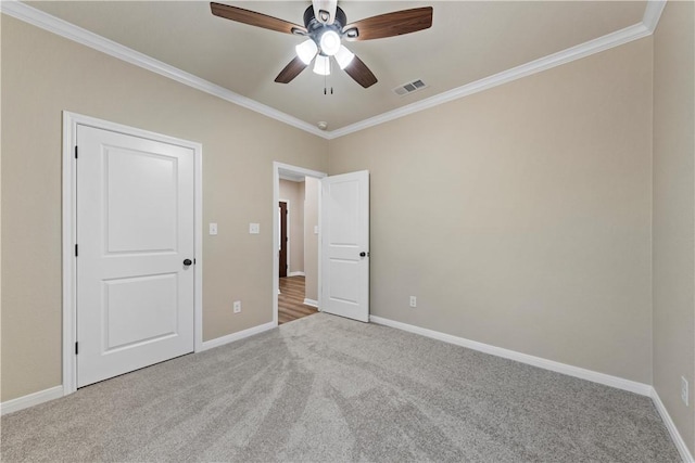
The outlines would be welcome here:
M 372 40 L 417 33 L 432 26 L 432 7 L 394 11 L 343 27 L 346 40 Z

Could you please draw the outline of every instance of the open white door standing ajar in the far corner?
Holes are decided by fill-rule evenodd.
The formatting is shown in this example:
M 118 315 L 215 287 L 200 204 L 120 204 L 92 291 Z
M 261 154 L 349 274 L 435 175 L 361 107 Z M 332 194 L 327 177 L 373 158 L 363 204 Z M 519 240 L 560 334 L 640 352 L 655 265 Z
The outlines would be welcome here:
M 321 311 L 369 321 L 369 171 L 321 179 Z

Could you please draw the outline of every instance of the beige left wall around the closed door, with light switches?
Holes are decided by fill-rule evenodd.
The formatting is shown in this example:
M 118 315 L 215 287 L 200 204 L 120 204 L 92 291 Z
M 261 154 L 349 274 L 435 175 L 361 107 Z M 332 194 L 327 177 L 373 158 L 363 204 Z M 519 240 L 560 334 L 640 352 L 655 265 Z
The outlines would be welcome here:
M 63 110 L 202 143 L 204 339 L 273 320 L 273 162 L 325 140 L 5 15 L 1 53 L 2 401 L 61 384 Z

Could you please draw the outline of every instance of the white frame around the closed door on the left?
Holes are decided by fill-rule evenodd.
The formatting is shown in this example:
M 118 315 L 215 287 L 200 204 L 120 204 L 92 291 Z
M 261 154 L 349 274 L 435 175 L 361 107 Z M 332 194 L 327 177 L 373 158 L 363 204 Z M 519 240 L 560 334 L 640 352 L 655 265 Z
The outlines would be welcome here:
M 77 126 L 89 126 L 134 137 L 156 140 L 191 149 L 194 157 L 194 349 L 201 350 L 203 344 L 203 146 L 200 143 L 163 136 L 147 130 L 81 114 L 63 111 L 63 395 L 77 390 L 77 306 L 76 306 L 76 258 L 77 234 L 77 177 L 75 172 L 75 146 L 77 145 Z

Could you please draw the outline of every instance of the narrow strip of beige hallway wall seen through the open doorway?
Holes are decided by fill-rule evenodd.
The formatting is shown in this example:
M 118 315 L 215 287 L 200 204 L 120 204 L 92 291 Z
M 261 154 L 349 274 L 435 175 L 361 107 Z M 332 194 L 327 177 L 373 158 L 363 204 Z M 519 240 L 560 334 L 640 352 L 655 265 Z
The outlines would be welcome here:
M 304 198 L 304 297 L 318 301 L 318 189 L 320 182 L 307 177 Z

